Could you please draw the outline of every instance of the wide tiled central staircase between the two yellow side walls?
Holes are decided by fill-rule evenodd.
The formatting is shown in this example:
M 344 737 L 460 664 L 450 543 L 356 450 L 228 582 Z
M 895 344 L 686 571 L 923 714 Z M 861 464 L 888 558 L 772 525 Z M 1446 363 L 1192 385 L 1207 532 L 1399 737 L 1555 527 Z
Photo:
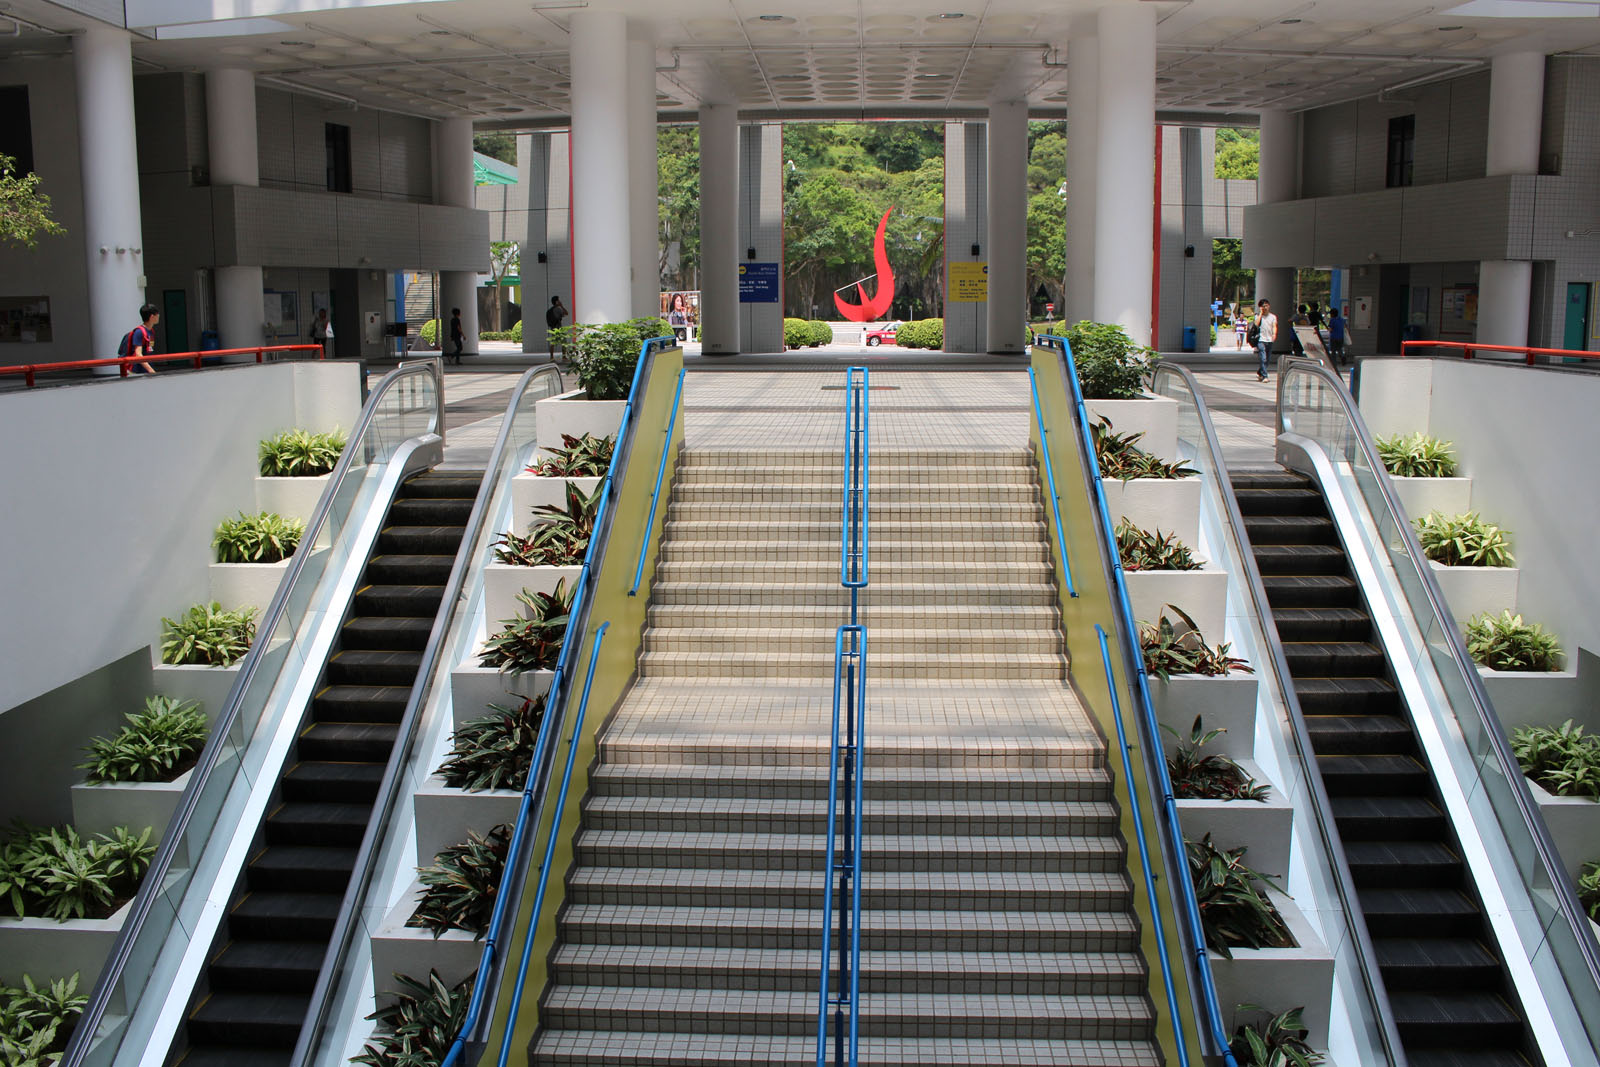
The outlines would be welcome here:
M 685 451 L 602 737 L 541 1064 L 813 1064 L 837 451 Z M 1162 1062 L 1022 450 L 872 454 L 862 1057 Z

